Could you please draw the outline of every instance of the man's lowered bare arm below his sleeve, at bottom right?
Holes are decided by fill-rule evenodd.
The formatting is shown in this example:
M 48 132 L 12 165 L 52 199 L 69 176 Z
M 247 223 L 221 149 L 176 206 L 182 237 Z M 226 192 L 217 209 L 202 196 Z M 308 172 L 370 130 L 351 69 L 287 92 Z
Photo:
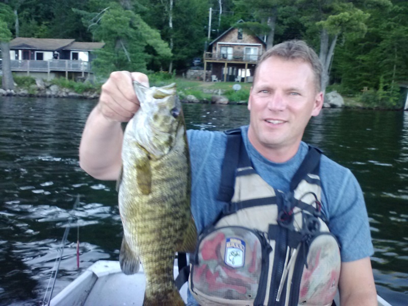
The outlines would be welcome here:
M 369 257 L 341 263 L 339 292 L 342 306 L 377 305 L 377 292 Z

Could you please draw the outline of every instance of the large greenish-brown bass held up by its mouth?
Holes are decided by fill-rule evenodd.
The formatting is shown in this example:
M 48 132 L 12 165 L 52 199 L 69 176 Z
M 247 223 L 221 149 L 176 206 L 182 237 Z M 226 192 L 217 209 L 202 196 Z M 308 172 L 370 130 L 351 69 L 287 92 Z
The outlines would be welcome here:
M 197 231 L 190 208 L 190 157 L 176 84 L 134 82 L 140 108 L 127 122 L 117 181 L 125 274 L 146 278 L 144 306 L 184 305 L 174 284 L 176 252 L 193 252 Z

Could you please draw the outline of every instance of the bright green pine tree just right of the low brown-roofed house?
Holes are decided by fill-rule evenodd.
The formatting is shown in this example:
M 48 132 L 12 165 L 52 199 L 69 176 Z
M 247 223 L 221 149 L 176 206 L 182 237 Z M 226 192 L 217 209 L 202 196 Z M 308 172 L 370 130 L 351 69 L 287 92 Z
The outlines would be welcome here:
M 94 39 L 105 42 L 104 48 L 95 51 L 93 61 L 94 71 L 99 74 L 107 75 L 114 70 L 147 72 L 151 56 L 171 57 L 171 50 L 160 33 L 149 27 L 139 14 L 117 3 L 109 3 L 98 13 L 81 13 Z M 154 54 L 148 54 L 146 47 Z

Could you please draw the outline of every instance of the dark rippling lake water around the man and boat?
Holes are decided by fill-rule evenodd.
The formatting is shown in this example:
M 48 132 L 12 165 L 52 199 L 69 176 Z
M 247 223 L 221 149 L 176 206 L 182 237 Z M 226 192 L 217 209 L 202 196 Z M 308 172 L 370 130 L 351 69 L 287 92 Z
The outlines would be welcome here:
M 53 296 L 95 261 L 118 259 L 115 182 L 92 179 L 78 163 L 82 129 L 95 103 L 0 97 L 0 305 L 42 303 L 70 219 Z M 184 105 L 184 112 L 191 129 L 226 130 L 249 118 L 238 105 Z M 408 113 L 324 109 L 304 139 L 359 180 L 377 291 L 393 305 L 408 304 Z M 72 212 L 77 195 L 80 204 Z

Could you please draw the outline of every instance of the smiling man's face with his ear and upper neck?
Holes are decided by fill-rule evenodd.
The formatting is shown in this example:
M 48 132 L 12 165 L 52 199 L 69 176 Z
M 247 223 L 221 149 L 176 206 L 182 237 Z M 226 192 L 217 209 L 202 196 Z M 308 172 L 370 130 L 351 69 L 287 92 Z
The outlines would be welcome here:
M 267 157 L 270 149 L 293 157 L 311 116 L 323 105 L 312 66 L 301 60 L 271 57 L 257 69 L 248 100 L 251 144 Z M 268 157 L 267 157 L 268 158 Z

